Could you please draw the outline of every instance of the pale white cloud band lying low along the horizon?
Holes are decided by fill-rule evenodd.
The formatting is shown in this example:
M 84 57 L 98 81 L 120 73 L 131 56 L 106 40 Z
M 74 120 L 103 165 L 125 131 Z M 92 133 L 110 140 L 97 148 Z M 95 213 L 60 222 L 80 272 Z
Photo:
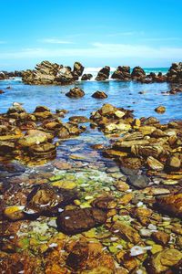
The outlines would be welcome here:
M 25 48 L 16 52 L 0 53 L 7 58 L 138 58 L 181 59 L 182 47 L 148 47 L 146 45 L 93 43 L 89 47 Z

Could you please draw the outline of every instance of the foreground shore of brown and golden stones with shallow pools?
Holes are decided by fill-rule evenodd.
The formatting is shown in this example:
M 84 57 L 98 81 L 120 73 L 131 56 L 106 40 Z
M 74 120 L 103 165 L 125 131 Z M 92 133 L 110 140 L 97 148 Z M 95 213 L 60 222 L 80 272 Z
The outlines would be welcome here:
M 111 104 L 66 112 L 14 103 L 0 115 L 2 273 L 180 273 L 182 122 Z M 110 144 L 84 153 L 88 130 Z

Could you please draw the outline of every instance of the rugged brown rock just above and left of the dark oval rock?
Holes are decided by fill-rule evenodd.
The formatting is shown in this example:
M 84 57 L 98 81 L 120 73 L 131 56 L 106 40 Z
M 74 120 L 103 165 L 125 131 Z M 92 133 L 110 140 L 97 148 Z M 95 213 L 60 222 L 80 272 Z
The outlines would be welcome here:
M 53 187 L 38 185 L 27 196 L 25 213 L 30 215 L 51 213 L 61 202 L 63 202 L 63 196 L 58 195 Z

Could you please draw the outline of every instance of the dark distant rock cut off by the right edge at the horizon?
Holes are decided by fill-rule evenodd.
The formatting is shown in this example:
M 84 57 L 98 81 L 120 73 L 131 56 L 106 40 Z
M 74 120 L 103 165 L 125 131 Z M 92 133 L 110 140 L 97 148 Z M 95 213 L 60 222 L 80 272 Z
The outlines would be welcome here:
M 173 63 L 168 69 L 167 82 L 182 83 L 182 62 Z

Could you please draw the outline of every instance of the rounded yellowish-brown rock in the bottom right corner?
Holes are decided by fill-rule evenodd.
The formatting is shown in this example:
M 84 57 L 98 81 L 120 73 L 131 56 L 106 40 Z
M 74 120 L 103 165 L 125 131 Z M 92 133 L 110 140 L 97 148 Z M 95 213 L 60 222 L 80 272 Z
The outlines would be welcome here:
M 149 263 L 147 263 L 148 273 L 164 273 L 177 265 L 181 258 L 181 252 L 173 248 L 157 252 L 157 254 L 150 258 Z

